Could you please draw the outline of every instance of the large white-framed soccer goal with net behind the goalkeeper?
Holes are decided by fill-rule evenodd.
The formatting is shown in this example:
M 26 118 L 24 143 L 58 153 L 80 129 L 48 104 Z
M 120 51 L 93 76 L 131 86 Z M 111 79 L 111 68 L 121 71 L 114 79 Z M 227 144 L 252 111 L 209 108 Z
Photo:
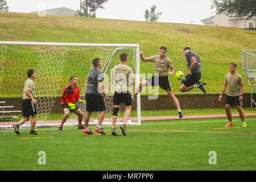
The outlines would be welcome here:
M 111 69 L 120 63 L 119 55 L 127 53 L 128 63 L 134 72 L 135 85 L 130 88 L 131 93 L 140 82 L 139 45 L 138 44 L 90 44 L 90 43 L 44 43 L 44 42 L 1 42 L 0 41 L 0 101 L 7 105 L 20 103 L 16 110 L 22 110 L 21 99 L 24 82 L 27 80 L 27 70 L 36 71 L 35 99 L 38 104 L 38 119 L 36 127 L 59 126 L 63 109 L 61 95 L 71 76 L 78 79 L 81 100 L 85 100 L 85 90 L 89 71 L 93 68 L 92 60 L 101 59 L 104 73 L 104 87 L 110 98 L 105 102 L 106 115 L 102 125 L 112 124 L 114 88 L 110 84 Z M 128 125 L 141 125 L 141 98 L 133 102 Z M 86 112 L 85 105 L 77 104 L 82 113 Z M 18 108 L 17 108 L 18 107 Z M 118 115 L 117 125 L 122 124 L 123 109 Z M 2 113 L 1 113 L 2 114 Z M 22 118 L 22 114 L 18 115 Z M 1 118 L 0 118 L 1 119 Z M 16 121 L 18 121 L 16 119 Z M 14 121 L 2 118 L 0 128 L 12 127 Z M 84 123 L 84 118 L 82 124 Z M 97 113 L 89 122 L 97 124 Z M 77 115 L 70 114 L 64 126 L 78 125 Z M 30 127 L 27 122 L 23 127 Z

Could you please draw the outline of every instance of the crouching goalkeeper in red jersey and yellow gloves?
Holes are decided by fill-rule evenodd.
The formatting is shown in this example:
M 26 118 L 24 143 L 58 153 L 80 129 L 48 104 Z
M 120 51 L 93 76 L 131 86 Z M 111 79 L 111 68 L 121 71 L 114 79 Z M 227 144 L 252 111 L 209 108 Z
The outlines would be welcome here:
M 67 118 L 70 113 L 75 113 L 77 115 L 77 119 L 79 121 L 79 127 L 78 129 L 84 129 L 84 126 L 82 126 L 82 111 L 79 109 L 79 107 L 76 105 L 76 101 L 81 102 L 85 105 L 84 100 L 80 100 L 79 96 L 79 88 L 77 85 L 77 77 L 72 76 L 70 78 L 71 84 L 67 85 L 62 94 L 61 98 L 61 105 L 63 107 L 64 115 L 61 118 L 61 124 L 59 127 L 59 130 L 63 130 L 63 125 L 65 121 L 67 121 Z

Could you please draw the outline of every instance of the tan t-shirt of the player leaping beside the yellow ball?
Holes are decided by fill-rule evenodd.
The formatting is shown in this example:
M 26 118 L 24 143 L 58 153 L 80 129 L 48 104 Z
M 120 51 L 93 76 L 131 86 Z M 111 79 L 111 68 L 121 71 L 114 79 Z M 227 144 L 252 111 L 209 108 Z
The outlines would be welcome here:
M 148 60 L 154 61 L 154 71 L 155 74 L 159 76 L 168 76 L 169 68 L 174 68 L 174 64 L 172 64 L 172 61 L 167 56 L 164 58 L 160 58 L 159 55 L 155 55 L 149 57 Z

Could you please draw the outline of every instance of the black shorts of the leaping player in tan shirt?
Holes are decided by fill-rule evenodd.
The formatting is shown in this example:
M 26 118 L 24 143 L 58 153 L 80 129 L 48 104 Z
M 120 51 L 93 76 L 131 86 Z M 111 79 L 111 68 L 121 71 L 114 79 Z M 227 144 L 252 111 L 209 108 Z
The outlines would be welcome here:
M 169 81 L 169 76 L 156 76 L 147 78 L 147 81 L 151 86 L 160 86 L 164 90 L 172 90 L 172 85 Z

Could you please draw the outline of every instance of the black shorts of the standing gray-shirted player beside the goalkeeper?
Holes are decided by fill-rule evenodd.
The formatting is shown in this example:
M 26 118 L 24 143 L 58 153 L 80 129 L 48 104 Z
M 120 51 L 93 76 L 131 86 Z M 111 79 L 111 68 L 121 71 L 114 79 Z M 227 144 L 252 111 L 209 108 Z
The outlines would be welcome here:
M 86 111 L 105 111 L 105 104 L 102 96 L 96 94 L 85 94 Z

